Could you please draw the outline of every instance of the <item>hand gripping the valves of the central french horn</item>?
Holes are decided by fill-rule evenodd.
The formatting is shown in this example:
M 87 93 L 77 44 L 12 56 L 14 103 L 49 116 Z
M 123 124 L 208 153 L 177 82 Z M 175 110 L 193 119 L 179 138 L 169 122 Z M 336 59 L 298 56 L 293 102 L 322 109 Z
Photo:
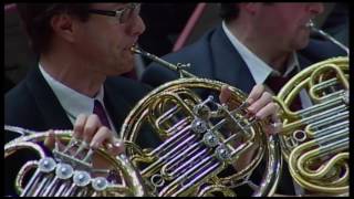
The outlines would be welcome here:
M 221 87 L 221 93 L 219 95 L 221 103 L 227 103 L 231 97 L 231 90 L 228 86 Z M 250 115 L 256 116 L 257 119 L 270 118 L 271 123 L 264 127 L 264 132 L 268 135 L 277 134 L 282 128 L 282 123 L 278 117 L 279 105 L 273 102 L 272 95 L 266 92 L 263 85 L 256 85 L 248 98 L 246 100 L 249 103 L 248 111 Z

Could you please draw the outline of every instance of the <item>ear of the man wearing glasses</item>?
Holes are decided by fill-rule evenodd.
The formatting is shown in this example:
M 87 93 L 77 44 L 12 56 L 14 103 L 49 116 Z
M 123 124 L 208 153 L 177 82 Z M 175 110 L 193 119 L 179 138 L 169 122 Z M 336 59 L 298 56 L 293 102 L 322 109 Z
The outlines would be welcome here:
M 53 32 L 62 39 L 73 42 L 74 41 L 74 19 L 66 14 L 55 14 L 51 19 Z

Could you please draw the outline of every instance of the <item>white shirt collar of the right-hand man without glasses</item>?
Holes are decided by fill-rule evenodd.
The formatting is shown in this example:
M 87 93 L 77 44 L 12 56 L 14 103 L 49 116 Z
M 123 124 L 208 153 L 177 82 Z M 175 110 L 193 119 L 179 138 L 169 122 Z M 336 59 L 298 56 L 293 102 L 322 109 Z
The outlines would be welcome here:
M 252 51 L 250 51 L 246 45 L 243 45 L 228 29 L 226 22 L 222 21 L 222 30 L 225 31 L 227 38 L 230 40 L 231 44 L 235 49 L 240 53 L 241 57 L 246 62 L 251 75 L 256 82 L 256 84 L 263 84 L 267 77 L 272 75 L 280 76 L 281 74 L 269 66 L 264 61 L 262 61 L 259 56 L 257 56 Z M 300 69 L 298 55 L 296 53 L 292 53 L 291 59 L 289 59 L 287 64 L 287 71 L 283 76 L 287 76 L 289 73 L 292 72 L 294 67 Z

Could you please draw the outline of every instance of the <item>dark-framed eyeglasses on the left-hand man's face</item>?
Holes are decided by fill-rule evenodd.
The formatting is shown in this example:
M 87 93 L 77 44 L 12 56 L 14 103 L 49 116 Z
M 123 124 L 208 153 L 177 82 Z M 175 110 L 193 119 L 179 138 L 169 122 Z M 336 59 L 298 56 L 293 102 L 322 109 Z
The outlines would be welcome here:
M 133 14 L 138 14 L 139 11 L 140 11 L 140 3 L 128 3 L 128 6 L 115 11 L 96 10 L 96 9 L 88 10 L 90 13 L 115 17 L 117 18 L 121 24 L 126 23 L 133 17 Z

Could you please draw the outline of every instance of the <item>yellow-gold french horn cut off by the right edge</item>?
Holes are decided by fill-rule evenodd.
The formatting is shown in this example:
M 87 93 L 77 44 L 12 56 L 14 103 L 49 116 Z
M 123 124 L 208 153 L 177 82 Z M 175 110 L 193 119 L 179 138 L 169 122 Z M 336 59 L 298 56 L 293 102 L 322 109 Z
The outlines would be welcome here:
M 348 53 L 343 44 L 340 48 Z M 274 97 L 281 106 L 282 154 L 305 195 L 348 195 L 348 56 L 332 57 L 299 72 Z M 293 100 L 303 91 L 312 105 L 291 109 Z

